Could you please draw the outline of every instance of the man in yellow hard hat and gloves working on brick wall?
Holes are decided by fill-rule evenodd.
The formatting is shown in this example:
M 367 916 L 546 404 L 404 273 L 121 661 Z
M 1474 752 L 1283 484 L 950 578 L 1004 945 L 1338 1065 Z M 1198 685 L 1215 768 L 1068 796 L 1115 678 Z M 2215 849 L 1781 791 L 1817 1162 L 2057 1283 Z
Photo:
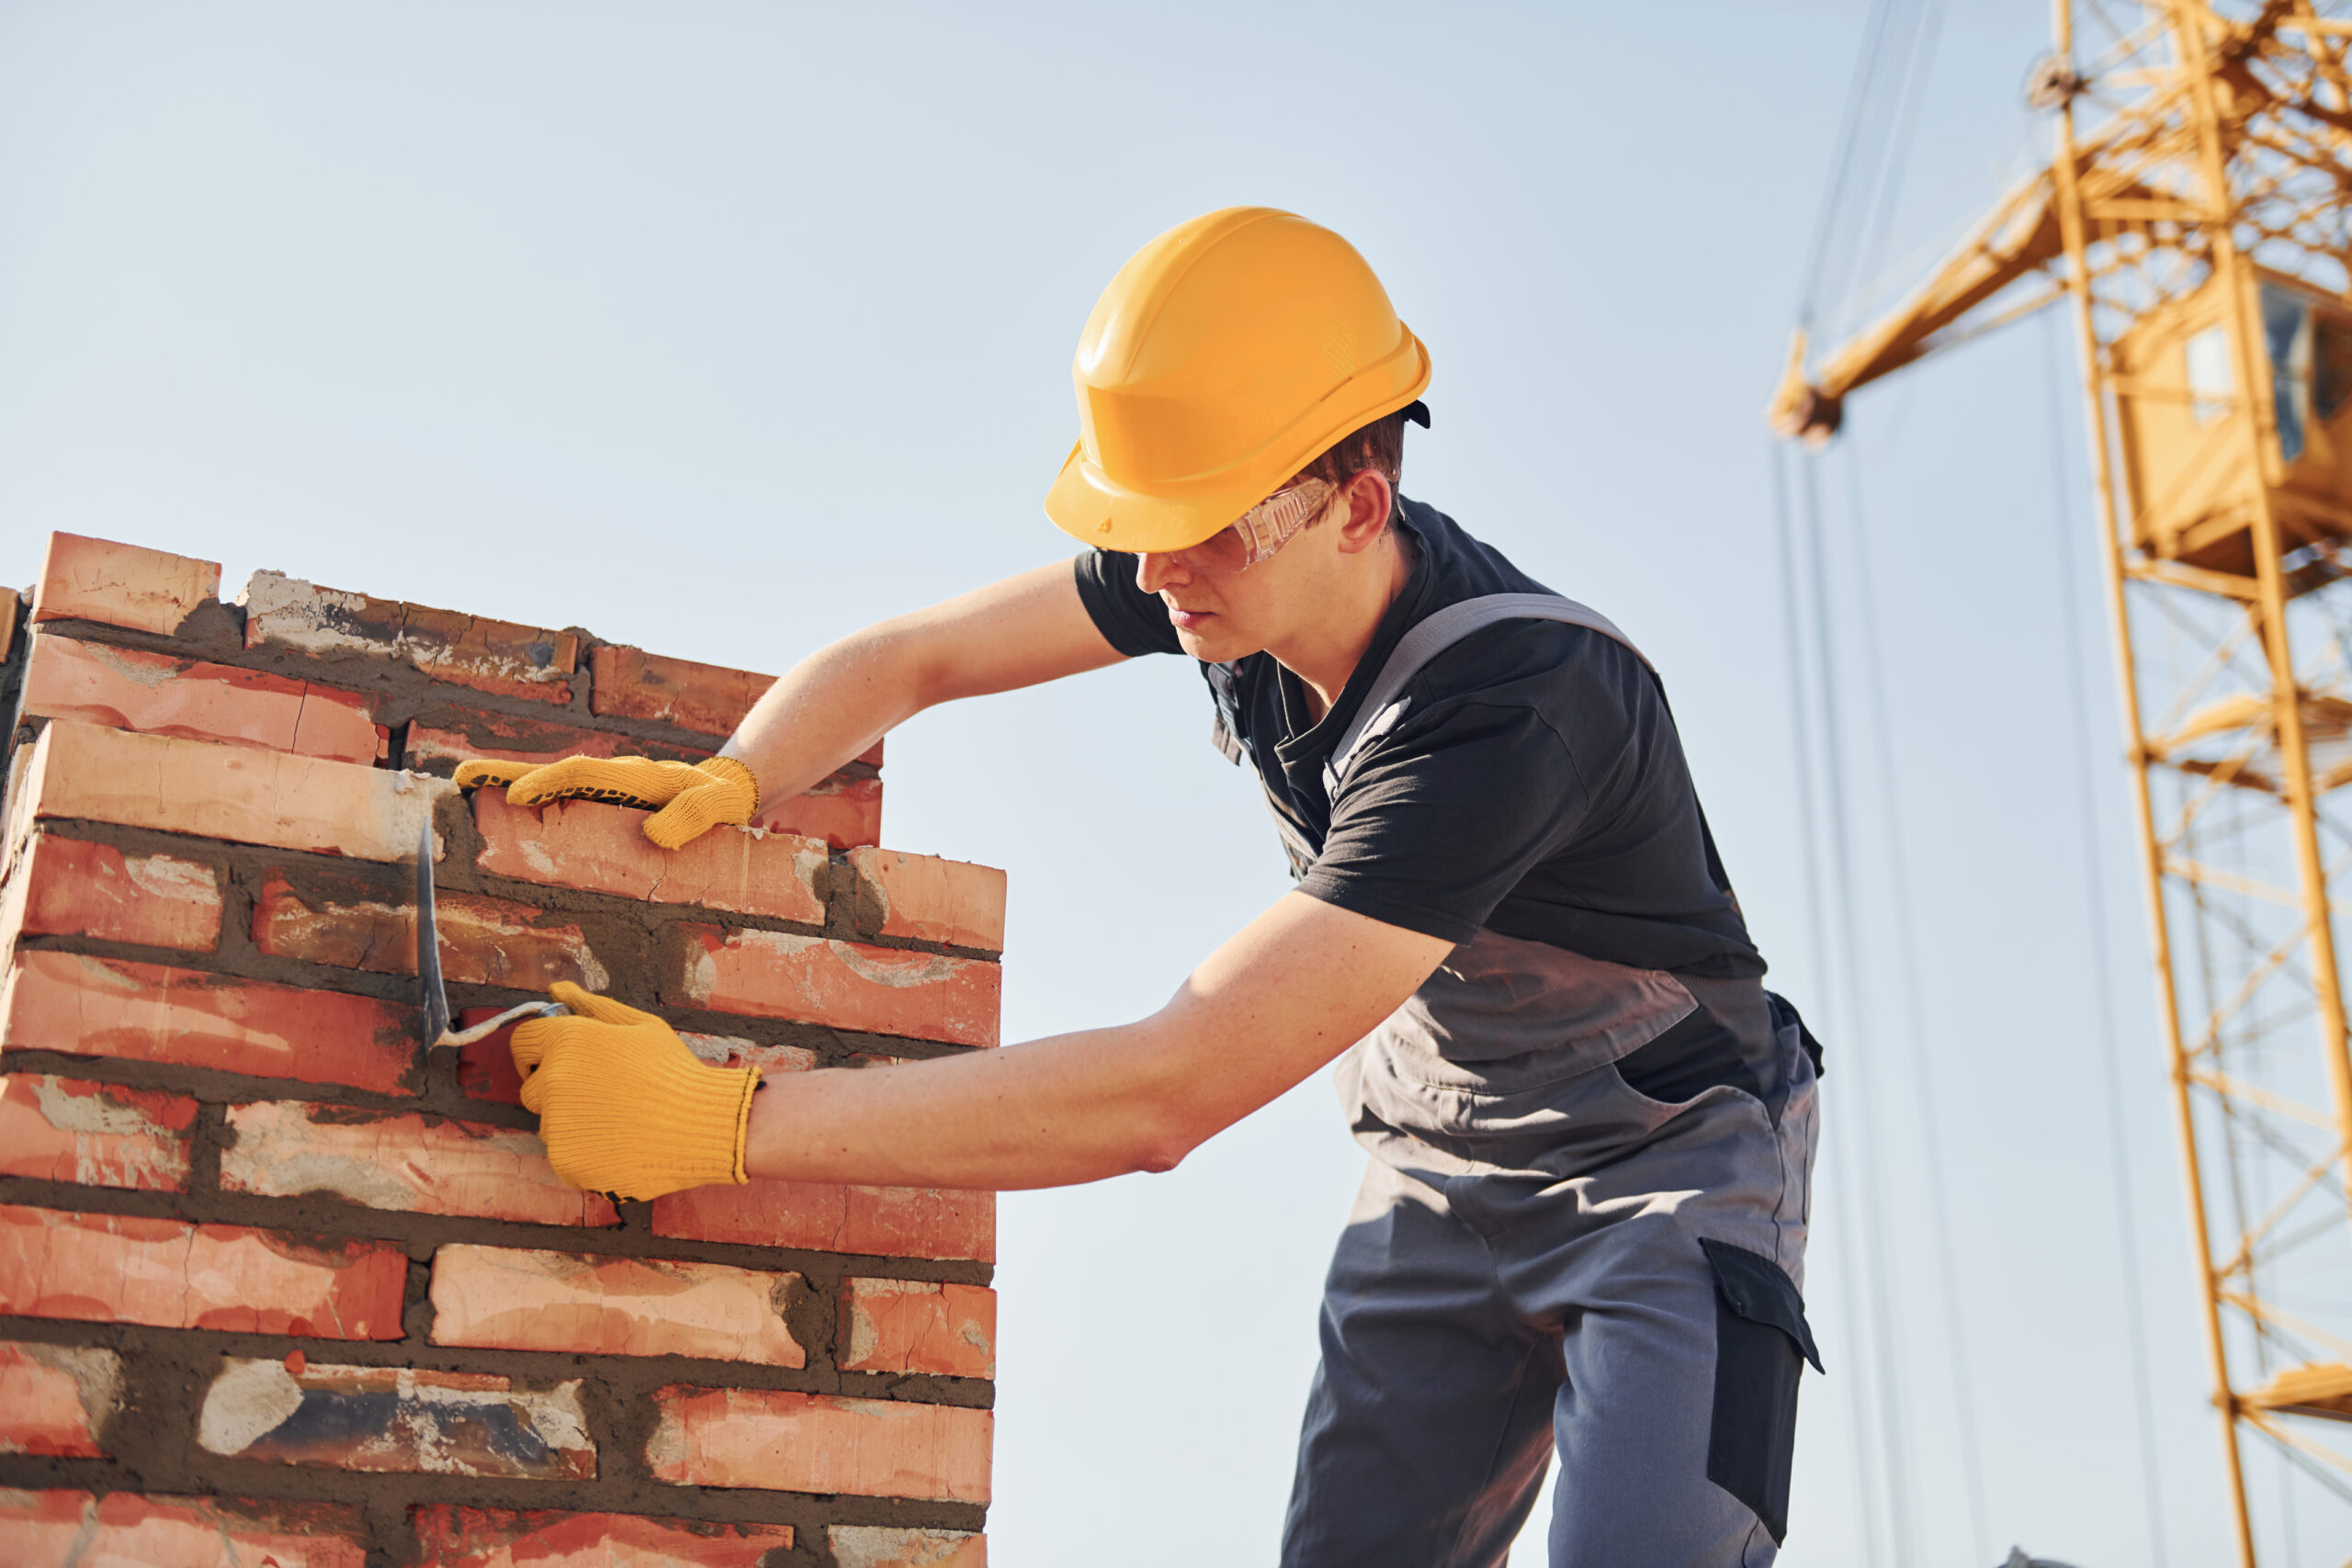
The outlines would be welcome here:
M 1555 1446 L 1552 1563 L 1769 1563 L 1813 1356 L 1818 1048 L 1759 983 L 1658 677 L 1402 498 L 1430 360 L 1338 235 L 1258 207 L 1160 235 L 1075 376 L 1047 494 L 1075 564 L 809 656 L 710 762 L 468 762 L 459 783 L 654 806 L 675 849 L 936 703 L 1185 654 L 1296 889 L 1150 1018 L 762 1095 L 560 985 L 576 1016 L 515 1032 L 548 1157 L 630 1199 L 1091 1182 L 1169 1171 L 1338 1060 L 1371 1161 L 1282 1563 L 1501 1563 Z

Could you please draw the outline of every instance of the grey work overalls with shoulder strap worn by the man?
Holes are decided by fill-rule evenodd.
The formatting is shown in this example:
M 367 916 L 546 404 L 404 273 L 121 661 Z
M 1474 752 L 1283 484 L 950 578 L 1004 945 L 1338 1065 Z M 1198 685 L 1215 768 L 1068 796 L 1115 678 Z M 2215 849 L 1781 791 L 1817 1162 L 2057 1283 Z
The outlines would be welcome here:
M 1451 604 L 1399 639 L 1327 788 L 1430 658 L 1503 618 L 1632 646 L 1552 595 Z M 1700 1006 L 1762 1063 L 1759 1093 L 1628 1086 L 1616 1063 Z M 1820 1366 L 1804 1044 L 1757 980 L 1482 931 L 1341 1058 L 1371 1164 L 1324 1288 L 1284 1568 L 1503 1563 L 1555 1446 L 1555 1568 L 1773 1561 L 1799 1356 Z

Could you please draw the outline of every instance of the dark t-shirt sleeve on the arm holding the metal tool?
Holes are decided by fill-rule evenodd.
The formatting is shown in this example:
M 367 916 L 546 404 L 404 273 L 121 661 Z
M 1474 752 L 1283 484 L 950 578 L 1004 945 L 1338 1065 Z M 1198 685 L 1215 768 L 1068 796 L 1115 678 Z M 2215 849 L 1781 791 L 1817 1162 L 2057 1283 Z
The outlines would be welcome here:
M 1536 708 L 1461 698 L 1406 719 L 1350 769 L 1298 891 L 1468 943 L 1592 806 L 1576 757 Z

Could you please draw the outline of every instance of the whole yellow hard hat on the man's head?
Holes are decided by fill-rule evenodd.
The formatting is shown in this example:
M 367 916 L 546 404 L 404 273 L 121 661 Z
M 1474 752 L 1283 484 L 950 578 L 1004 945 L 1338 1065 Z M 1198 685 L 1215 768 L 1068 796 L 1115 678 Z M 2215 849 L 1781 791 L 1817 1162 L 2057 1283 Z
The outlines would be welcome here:
M 1225 207 L 1120 268 L 1070 374 L 1077 447 L 1044 515 L 1089 545 L 1183 550 L 1421 397 L 1430 350 L 1352 244 Z

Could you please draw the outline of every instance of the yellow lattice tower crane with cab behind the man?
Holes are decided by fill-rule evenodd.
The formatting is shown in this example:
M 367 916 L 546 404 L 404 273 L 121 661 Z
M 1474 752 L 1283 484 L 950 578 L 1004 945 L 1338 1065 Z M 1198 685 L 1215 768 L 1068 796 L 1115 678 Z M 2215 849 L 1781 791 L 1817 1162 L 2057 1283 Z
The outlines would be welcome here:
M 2328 9 L 2056 0 L 2027 94 L 2049 165 L 1851 341 L 1799 334 L 1771 402 L 1820 444 L 1858 388 L 2072 303 L 2249 1568 L 2249 1434 L 2352 1495 L 2352 19 Z

